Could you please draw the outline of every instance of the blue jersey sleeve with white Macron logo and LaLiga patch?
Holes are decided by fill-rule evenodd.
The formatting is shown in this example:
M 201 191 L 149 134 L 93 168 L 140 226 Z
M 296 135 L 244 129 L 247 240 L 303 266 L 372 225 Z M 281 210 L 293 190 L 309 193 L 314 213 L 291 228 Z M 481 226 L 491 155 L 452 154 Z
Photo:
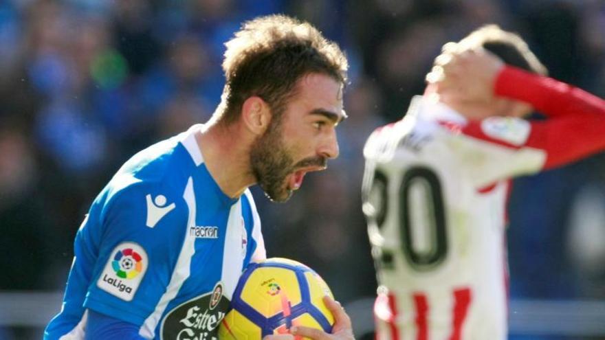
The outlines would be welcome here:
M 166 291 L 187 216 L 182 194 L 156 183 L 109 195 L 98 216 L 98 257 L 85 306 L 140 326 Z

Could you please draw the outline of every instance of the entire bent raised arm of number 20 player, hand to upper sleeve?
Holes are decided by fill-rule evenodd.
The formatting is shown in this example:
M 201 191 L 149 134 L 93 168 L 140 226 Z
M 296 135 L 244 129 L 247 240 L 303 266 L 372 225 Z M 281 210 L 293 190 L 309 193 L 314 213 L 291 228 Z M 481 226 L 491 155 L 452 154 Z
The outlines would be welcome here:
M 487 101 L 495 95 L 525 102 L 549 117 L 539 122 L 515 117 L 471 120 L 462 129 L 466 135 L 511 151 L 532 150 L 529 152 L 532 154 L 537 151 L 543 159 L 538 161 L 542 163 L 540 166 L 528 166 L 525 160 L 528 152 L 509 153 L 507 166 L 499 167 L 494 176 L 484 171 L 479 177 L 495 181 L 501 176 L 562 166 L 605 150 L 605 101 L 601 98 L 553 78 L 505 65 L 484 49 L 460 53 L 446 50 L 435 65 L 428 80 L 434 82 L 437 93 L 449 102 Z

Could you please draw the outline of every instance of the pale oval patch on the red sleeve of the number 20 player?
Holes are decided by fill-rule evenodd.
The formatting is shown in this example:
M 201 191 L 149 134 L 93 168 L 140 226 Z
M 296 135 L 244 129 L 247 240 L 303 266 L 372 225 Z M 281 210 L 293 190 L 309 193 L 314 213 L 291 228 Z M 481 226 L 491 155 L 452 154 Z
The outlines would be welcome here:
M 527 120 L 514 117 L 489 117 L 481 122 L 481 130 L 485 135 L 514 146 L 525 144 L 530 129 Z

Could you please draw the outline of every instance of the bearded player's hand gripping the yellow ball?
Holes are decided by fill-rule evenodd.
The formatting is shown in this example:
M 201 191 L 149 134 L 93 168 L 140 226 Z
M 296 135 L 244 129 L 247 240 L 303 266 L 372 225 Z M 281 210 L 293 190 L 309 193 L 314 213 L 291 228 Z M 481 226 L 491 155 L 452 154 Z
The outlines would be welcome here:
M 328 334 L 315 328 L 297 326 L 292 328 L 292 334 L 314 340 L 354 340 L 351 319 L 344 311 L 344 308 L 329 296 L 324 297 L 324 302 L 332 315 L 334 315 L 335 321 L 332 333 Z M 267 335 L 263 340 L 294 340 L 293 335 Z

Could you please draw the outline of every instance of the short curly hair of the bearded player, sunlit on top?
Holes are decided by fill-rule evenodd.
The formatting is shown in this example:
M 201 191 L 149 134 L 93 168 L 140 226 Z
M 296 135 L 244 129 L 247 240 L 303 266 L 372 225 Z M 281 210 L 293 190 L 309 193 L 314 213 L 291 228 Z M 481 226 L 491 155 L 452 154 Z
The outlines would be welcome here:
M 323 73 L 347 82 L 347 58 L 336 43 L 312 25 L 285 15 L 261 16 L 243 23 L 225 43 L 225 88 L 215 120 L 235 122 L 253 95 L 263 98 L 279 116 L 308 73 Z

